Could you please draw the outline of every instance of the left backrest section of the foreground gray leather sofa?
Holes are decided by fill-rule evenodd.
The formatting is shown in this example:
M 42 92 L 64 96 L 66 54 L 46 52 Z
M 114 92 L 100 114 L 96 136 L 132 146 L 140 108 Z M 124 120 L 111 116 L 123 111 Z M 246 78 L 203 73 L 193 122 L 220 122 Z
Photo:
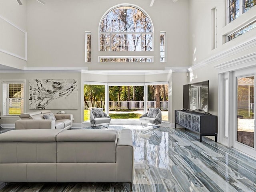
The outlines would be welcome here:
M 56 163 L 62 130 L 12 130 L 0 135 L 0 163 Z

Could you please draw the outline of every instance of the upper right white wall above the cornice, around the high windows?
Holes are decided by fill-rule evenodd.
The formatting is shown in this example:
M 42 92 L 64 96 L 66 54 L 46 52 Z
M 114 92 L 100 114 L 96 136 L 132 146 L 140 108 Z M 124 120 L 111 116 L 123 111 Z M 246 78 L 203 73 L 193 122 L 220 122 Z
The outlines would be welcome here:
M 256 20 L 256 6 L 239 16 L 236 20 L 227 24 L 226 0 L 193 0 L 189 1 L 189 65 L 196 65 L 232 49 L 239 44 L 256 36 L 256 29 L 227 42 L 226 35 L 236 32 L 239 28 L 252 20 Z M 212 8 L 217 9 L 217 48 L 212 50 Z M 235 55 L 239 57 L 240 55 Z M 230 58 L 226 58 L 227 60 Z

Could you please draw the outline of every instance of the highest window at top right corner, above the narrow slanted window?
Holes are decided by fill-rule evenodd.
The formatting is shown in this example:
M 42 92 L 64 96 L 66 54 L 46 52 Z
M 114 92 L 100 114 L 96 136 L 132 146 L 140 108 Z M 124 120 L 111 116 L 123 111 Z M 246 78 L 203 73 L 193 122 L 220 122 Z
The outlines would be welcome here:
M 228 0 L 228 23 L 256 5 L 256 0 Z

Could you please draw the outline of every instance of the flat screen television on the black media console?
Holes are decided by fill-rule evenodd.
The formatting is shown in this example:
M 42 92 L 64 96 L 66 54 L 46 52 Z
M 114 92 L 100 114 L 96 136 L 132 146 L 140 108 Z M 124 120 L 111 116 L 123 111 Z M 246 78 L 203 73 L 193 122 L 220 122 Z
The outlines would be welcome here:
M 183 108 L 208 113 L 209 81 L 183 86 Z

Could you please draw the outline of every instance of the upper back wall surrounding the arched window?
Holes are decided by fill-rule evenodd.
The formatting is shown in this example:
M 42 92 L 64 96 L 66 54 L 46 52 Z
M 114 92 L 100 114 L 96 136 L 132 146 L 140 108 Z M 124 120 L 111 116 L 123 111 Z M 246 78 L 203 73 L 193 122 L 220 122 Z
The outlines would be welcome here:
M 163 70 L 188 65 L 188 2 L 158 0 L 45 0 L 27 2 L 28 67 L 88 67 L 89 70 Z M 141 7 L 152 19 L 154 63 L 98 63 L 98 55 L 131 53 L 98 51 L 98 27 L 106 11 L 118 4 Z M 178 18 L 178 19 L 177 19 Z M 92 63 L 85 63 L 84 32 L 92 32 Z M 167 63 L 160 63 L 160 31 L 167 35 Z

